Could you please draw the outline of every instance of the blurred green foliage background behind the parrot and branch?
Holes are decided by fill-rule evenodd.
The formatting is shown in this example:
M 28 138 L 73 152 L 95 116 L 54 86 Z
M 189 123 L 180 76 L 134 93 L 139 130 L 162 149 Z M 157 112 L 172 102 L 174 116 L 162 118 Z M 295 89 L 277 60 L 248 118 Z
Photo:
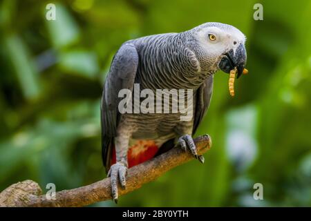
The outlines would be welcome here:
M 249 75 L 216 73 L 198 135 L 213 148 L 121 198 L 121 206 L 311 206 L 311 2 L 0 1 L 0 190 L 31 179 L 57 190 L 105 177 L 100 97 L 122 42 L 218 21 L 247 36 Z M 264 200 L 253 199 L 263 184 Z M 100 202 L 93 206 L 115 206 Z

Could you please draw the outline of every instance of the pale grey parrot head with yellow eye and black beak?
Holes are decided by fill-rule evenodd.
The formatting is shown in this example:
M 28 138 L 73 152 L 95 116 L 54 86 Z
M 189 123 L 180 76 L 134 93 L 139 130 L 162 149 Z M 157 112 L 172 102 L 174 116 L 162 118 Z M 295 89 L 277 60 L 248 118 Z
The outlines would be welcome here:
M 224 23 L 204 23 L 192 30 L 189 48 L 203 70 L 223 70 L 229 73 L 237 68 L 238 77 L 246 64 L 245 35 Z

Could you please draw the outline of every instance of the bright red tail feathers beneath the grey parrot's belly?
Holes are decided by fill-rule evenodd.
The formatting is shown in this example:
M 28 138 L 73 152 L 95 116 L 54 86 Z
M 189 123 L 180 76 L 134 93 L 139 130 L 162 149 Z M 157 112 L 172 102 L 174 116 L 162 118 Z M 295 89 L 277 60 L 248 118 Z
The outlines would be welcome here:
M 127 153 L 127 162 L 129 164 L 129 168 L 150 160 L 156 155 L 159 149 L 156 142 L 153 140 L 135 140 L 131 143 L 132 144 L 129 146 L 129 151 Z M 115 147 L 113 146 L 111 164 L 115 164 L 115 162 L 116 155 Z

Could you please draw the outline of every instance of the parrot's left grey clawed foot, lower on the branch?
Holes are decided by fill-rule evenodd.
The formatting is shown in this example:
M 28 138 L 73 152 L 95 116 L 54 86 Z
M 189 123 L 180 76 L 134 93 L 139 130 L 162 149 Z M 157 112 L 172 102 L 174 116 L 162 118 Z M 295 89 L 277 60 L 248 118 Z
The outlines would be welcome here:
M 108 172 L 107 177 L 110 177 L 111 180 L 111 193 L 113 201 L 115 203 L 117 203 L 117 198 L 119 197 L 117 193 L 117 182 L 120 181 L 122 188 L 125 189 L 126 173 L 127 173 L 127 163 L 124 162 L 117 162 L 116 164 L 111 165 L 111 168 Z

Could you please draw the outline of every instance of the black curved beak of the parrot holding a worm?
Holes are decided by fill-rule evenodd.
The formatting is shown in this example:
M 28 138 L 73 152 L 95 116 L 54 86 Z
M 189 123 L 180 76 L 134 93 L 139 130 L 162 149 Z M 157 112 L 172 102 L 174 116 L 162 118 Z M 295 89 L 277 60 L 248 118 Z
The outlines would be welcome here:
M 236 68 L 238 70 L 239 78 L 246 64 L 246 50 L 244 44 L 239 44 L 238 48 L 234 52 L 233 49 L 229 50 L 223 55 L 223 58 L 218 64 L 218 68 L 225 73 L 230 73 L 230 70 Z

